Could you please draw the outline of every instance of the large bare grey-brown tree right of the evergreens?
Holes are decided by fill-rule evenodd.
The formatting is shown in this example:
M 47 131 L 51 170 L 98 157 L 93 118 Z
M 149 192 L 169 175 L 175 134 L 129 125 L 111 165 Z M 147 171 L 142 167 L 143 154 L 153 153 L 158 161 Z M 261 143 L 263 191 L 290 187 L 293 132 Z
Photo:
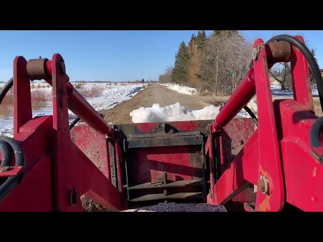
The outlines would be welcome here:
M 251 55 L 251 42 L 241 37 L 238 31 L 214 31 L 201 55 L 202 81 L 209 90 L 231 94 L 246 74 Z

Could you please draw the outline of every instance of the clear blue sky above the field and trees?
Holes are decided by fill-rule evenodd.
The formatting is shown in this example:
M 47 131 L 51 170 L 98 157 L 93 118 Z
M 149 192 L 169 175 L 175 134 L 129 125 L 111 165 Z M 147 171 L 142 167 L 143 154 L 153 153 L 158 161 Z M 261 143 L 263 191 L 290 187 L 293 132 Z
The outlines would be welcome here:
M 210 30 L 206 31 L 207 35 Z M 323 31 L 248 30 L 247 39 L 264 41 L 273 34 L 302 34 L 316 49 L 323 67 Z M 174 65 L 181 41 L 186 43 L 197 30 L 188 31 L 0 31 L 0 81 L 13 76 L 13 60 L 62 54 L 71 81 L 157 80 L 167 66 Z

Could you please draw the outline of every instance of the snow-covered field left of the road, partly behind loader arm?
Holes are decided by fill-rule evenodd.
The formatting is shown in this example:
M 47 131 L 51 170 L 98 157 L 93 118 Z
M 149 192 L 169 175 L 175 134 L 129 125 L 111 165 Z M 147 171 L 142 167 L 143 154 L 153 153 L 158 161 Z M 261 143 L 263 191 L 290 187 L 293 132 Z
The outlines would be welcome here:
M 74 84 L 74 83 L 73 83 Z M 117 104 L 126 101 L 136 95 L 140 90 L 145 88 L 147 84 L 130 84 L 130 85 L 106 85 L 106 83 L 87 83 L 83 85 L 84 88 L 90 88 L 93 85 L 104 88 L 103 93 L 99 97 L 86 98 L 86 100 L 94 107 L 95 110 L 100 111 L 102 109 L 109 109 Z M 36 85 L 37 86 L 37 85 Z M 47 88 L 46 84 L 41 85 L 38 90 L 51 91 L 51 87 Z M 33 89 L 32 89 L 33 90 Z M 52 107 L 43 108 L 41 110 L 33 110 L 34 116 L 52 115 Z M 70 122 L 76 116 L 69 111 Z M 0 118 L 0 137 L 1 136 L 13 136 L 13 117 L 7 119 Z

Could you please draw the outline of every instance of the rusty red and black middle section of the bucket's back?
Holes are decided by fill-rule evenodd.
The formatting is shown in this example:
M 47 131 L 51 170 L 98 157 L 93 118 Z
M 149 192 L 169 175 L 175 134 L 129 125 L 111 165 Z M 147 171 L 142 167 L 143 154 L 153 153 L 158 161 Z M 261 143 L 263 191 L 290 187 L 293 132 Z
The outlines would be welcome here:
M 184 199 L 183 194 L 190 192 L 201 193 L 193 196 L 194 199 L 206 196 L 202 186 L 205 183 L 205 167 L 200 151 L 204 139 L 201 132 L 209 122 L 204 120 L 115 126 L 115 129 L 121 131 L 120 137 L 128 144 L 127 177 L 131 202 L 156 200 L 158 196 L 153 194 L 158 192 L 163 196 L 159 196 L 157 200 L 165 202 L 169 199 Z M 202 183 L 196 182 L 201 179 Z M 177 198 L 175 195 L 169 197 L 171 194 L 178 194 Z

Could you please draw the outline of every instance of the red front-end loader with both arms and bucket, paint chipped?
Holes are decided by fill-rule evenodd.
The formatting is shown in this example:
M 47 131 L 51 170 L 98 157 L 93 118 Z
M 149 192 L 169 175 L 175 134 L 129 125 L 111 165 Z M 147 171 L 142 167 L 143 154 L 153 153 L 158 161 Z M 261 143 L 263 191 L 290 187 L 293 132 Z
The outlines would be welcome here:
M 289 50 L 279 52 L 278 48 L 275 52 L 261 39 L 255 41 L 254 48 L 253 68 L 212 122 L 114 126 L 102 121 L 66 81 L 59 54 L 46 64 L 51 74 L 46 81 L 53 87 L 53 115 L 31 118 L 26 60 L 16 57 L 14 140 L 24 150 L 26 165 L 1 172 L 2 177 L 15 172 L 23 176 L 21 183 L 3 198 L 0 211 L 82 211 L 83 194 L 106 208 L 123 210 L 128 204 L 135 206 L 138 197 L 134 195 L 145 192 L 154 199 L 159 196 L 159 200 L 168 200 L 169 193 L 175 192 L 180 195 L 174 197 L 185 198 L 185 202 L 227 204 L 248 211 L 281 211 L 286 203 L 304 211 L 323 211 L 323 165 L 309 141 L 309 132 L 318 117 L 313 113 L 308 64 L 303 54 L 292 47 L 294 100 L 273 102 L 268 68 L 274 63 L 267 63 L 267 59 L 271 55 L 276 56 L 274 60 L 285 58 Z M 257 129 L 251 118 L 233 119 L 254 94 Z M 79 112 L 90 124 L 74 128 L 75 143 L 70 138 L 68 108 Z M 171 142 L 173 137 L 176 142 Z M 133 143 L 129 143 L 131 140 Z M 109 149 L 108 142 L 114 149 Z M 127 148 L 127 144 L 135 145 Z M 315 150 L 323 153 L 323 147 Z M 150 184 L 163 177 L 166 180 L 162 186 Z M 180 184 L 173 187 L 174 191 L 174 184 L 169 184 L 172 182 Z M 254 185 L 258 186 L 256 201 Z

